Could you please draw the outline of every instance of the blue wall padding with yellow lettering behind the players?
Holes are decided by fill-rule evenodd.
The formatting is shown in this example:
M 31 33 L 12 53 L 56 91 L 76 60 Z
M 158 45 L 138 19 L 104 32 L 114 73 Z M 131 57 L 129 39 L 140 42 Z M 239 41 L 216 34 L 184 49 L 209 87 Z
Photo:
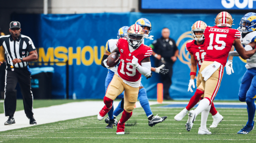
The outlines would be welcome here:
M 232 13 L 231 13 L 232 14 Z M 238 28 L 243 14 L 232 14 L 233 28 Z M 102 99 L 105 95 L 105 77 L 107 68 L 101 66 L 108 39 L 116 39 L 118 29 L 132 25 L 140 18 L 151 21 L 154 39 L 160 38 L 163 27 L 171 30 L 171 38 L 179 47 L 179 59 L 173 66 L 172 85 L 169 89 L 174 99 L 189 99 L 194 93 L 188 92 L 190 80 L 190 56 L 185 50 L 185 43 L 191 40 L 191 25 L 204 21 L 207 25 L 215 24 L 213 14 L 171 14 L 171 13 L 93 13 L 76 15 L 33 15 L 13 14 L 13 21 L 21 22 L 21 33 L 29 36 L 38 48 L 38 61 L 57 62 L 69 59 L 69 98 Z M 145 44 L 152 41 L 145 39 Z M 154 57 L 151 57 L 154 67 Z M 238 100 L 238 90 L 246 63 L 240 58 L 233 58 L 235 73 L 227 75 L 224 71 L 221 87 L 215 99 Z M 42 65 L 54 67 L 52 79 L 52 98 L 65 98 L 65 64 Z M 33 65 L 32 65 L 33 67 Z M 226 70 L 226 69 L 225 69 Z M 157 98 L 157 73 L 152 78 L 142 78 L 149 99 Z M 195 81 L 196 82 L 196 81 Z M 196 91 L 196 89 L 193 89 Z

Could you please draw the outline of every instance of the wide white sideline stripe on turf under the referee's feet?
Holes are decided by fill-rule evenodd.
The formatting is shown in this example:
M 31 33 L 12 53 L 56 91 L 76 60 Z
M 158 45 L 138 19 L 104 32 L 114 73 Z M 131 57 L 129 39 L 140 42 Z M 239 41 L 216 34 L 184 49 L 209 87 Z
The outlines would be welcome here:
M 119 101 L 114 101 L 114 107 L 117 107 Z M 150 102 L 150 105 L 157 104 L 157 102 Z M 62 105 L 54 105 L 51 107 L 34 108 L 34 117 L 37 125 L 47 124 L 51 122 L 65 121 L 68 119 L 82 118 L 86 116 L 98 115 L 101 108 L 104 106 L 102 101 L 84 101 L 84 102 L 71 102 Z M 140 102 L 136 103 L 136 107 L 141 107 Z M 7 117 L 0 114 L 0 131 L 13 130 L 16 128 L 30 127 L 29 119 L 27 119 L 24 110 L 16 111 L 15 124 L 4 125 Z

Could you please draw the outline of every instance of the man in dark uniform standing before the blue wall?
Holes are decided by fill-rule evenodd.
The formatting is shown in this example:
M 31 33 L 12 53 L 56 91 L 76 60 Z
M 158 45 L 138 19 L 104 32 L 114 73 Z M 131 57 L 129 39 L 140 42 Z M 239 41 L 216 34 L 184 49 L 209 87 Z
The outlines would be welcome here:
M 170 30 L 169 28 L 162 29 L 162 38 L 155 40 L 151 45 L 149 45 L 153 50 L 153 56 L 156 58 L 155 66 L 159 67 L 165 64 L 165 68 L 169 69 L 169 73 L 165 75 L 160 75 L 163 82 L 163 99 L 172 100 L 169 95 L 169 88 L 171 87 L 171 77 L 172 77 L 172 65 L 177 60 L 179 55 L 179 50 L 176 46 L 176 42 L 169 38 Z

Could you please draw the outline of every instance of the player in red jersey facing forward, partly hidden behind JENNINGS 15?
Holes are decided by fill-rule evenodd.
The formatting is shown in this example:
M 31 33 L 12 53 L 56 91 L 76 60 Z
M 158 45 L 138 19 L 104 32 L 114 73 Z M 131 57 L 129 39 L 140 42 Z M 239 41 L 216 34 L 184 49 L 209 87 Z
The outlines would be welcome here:
M 193 92 L 191 88 L 192 85 L 194 88 L 194 78 L 196 76 L 197 65 L 200 70 L 202 62 L 204 61 L 204 56 L 206 54 L 204 42 L 204 30 L 206 27 L 207 24 L 205 24 L 204 21 L 196 21 L 191 27 L 191 34 L 193 35 L 194 40 L 187 42 L 186 44 L 186 48 L 188 52 L 190 52 L 191 56 L 190 84 L 188 85 L 188 91 L 191 92 Z M 199 75 L 199 73 L 197 75 Z M 196 105 L 197 102 L 200 101 L 200 99 L 204 98 L 204 87 L 202 86 L 202 81 L 199 76 L 197 76 L 196 79 L 196 87 L 196 93 L 194 93 L 194 96 L 192 96 L 190 102 L 188 102 L 187 107 L 180 111 L 180 113 L 174 117 L 176 121 L 181 121 L 185 117 L 185 115 L 187 115 L 188 111 L 190 111 L 191 108 L 193 108 L 194 105 Z M 219 122 L 222 121 L 223 117 L 216 110 L 213 103 L 210 109 L 210 113 L 212 113 L 213 116 L 213 124 L 210 127 L 215 128 L 218 126 Z

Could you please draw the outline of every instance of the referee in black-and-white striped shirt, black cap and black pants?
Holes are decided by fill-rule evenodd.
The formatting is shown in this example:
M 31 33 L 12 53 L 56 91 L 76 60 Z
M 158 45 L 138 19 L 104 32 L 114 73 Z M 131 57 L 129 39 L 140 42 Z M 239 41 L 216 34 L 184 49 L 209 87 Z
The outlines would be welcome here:
M 37 60 L 37 51 L 32 40 L 21 35 L 21 24 L 10 22 L 10 35 L 0 36 L 0 46 L 5 50 L 7 65 L 5 68 L 4 113 L 9 119 L 4 125 L 15 124 L 13 115 L 16 110 L 16 90 L 19 82 L 23 95 L 23 105 L 29 124 L 37 124 L 33 113 L 33 95 L 31 91 L 31 76 L 28 62 Z M 3 62 L 0 62 L 0 65 Z

